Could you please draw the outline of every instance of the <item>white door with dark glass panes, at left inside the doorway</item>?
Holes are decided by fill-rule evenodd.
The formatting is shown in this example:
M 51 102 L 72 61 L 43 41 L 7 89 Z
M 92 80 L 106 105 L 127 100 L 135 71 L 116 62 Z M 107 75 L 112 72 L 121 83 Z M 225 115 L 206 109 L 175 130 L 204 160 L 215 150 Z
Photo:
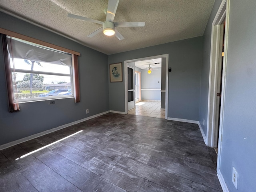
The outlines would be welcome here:
M 134 68 L 128 66 L 128 110 L 131 110 L 135 107 L 134 99 Z

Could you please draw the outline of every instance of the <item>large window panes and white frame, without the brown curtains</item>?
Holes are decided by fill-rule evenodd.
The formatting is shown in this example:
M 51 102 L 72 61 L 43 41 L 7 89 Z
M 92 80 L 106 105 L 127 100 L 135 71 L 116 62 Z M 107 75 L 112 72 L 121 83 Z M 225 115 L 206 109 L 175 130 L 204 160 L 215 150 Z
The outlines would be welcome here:
M 11 43 L 18 102 L 74 97 L 72 54 L 14 37 Z

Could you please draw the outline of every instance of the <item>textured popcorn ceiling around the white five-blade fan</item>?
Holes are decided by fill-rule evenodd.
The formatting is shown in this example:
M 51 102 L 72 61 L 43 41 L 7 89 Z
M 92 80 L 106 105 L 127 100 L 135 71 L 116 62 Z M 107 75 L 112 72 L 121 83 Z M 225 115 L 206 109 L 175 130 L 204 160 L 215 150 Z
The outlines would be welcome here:
M 121 41 L 102 32 L 86 37 L 101 25 L 67 16 L 104 22 L 108 0 L 0 0 L 0 10 L 109 55 L 202 36 L 213 4 L 214 0 L 120 0 L 114 22 L 146 22 L 145 27 L 118 27 Z

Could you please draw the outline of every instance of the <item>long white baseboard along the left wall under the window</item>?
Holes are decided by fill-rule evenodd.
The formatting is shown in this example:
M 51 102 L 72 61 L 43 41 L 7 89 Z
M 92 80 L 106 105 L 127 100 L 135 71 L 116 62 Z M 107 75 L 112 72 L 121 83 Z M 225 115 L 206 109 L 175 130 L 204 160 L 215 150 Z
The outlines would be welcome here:
M 24 138 L 22 138 L 22 139 L 18 139 L 18 140 L 16 140 L 16 141 L 12 141 L 12 142 L 3 144 L 3 145 L 0 146 L 0 150 L 6 149 L 6 148 L 8 148 L 8 147 L 11 147 L 11 146 L 14 146 L 14 145 L 17 145 L 17 144 L 26 142 L 26 141 L 28 141 L 28 140 L 31 140 L 31 139 L 34 139 L 34 138 L 37 138 L 37 137 L 40 137 L 40 136 L 43 136 L 43 135 L 46 135 L 46 134 L 49 134 L 49 133 L 52 133 L 52 132 L 57 131 L 57 130 L 60 130 L 60 129 L 63 129 L 63 128 L 72 126 L 72 125 L 74 125 L 74 124 L 78 124 L 78 123 L 80 123 L 80 122 L 83 122 L 83 121 L 92 119 L 92 118 L 94 118 L 94 117 L 98 117 L 98 116 L 107 114 L 107 113 L 109 113 L 109 112 L 110 112 L 110 111 L 102 112 L 102 113 L 99 113 L 99 114 L 96 114 L 96 115 L 93 115 L 93 116 L 90 116 L 90 117 L 87 117 L 87 118 L 84 118 L 84 119 L 80 119 L 80 120 L 77 120 L 77 121 L 74 121 L 74 122 L 71 122 L 71 123 L 62 125 L 62 126 L 58 126 L 58 127 L 56 127 L 56 128 L 52 128 L 52 129 L 50 129 L 50 130 L 46 130 L 46 131 L 43 131 L 43 132 L 40 132 L 40 133 L 37 133 L 37 134 L 34 134 L 34 135 L 30 135 L 30 136 L 28 136 L 28 137 L 24 137 Z

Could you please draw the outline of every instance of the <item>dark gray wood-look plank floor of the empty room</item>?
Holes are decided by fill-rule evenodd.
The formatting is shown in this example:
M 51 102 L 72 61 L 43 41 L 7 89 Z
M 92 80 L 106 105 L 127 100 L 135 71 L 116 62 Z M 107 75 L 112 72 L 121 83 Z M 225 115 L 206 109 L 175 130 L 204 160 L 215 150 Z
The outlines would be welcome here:
M 28 152 L 82 132 L 22 159 Z M 197 124 L 108 113 L 0 151 L 0 191 L 217 192 Z

